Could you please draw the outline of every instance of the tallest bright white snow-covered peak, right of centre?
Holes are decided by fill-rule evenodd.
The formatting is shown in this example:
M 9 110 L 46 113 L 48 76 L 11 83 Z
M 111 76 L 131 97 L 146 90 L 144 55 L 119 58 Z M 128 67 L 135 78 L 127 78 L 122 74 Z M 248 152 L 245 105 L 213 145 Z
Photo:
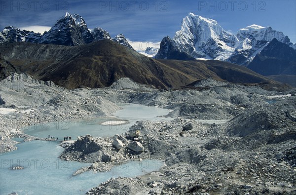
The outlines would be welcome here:
M 233 35 L 222 29 L 216 20 L 189 13 L 182 21 L 181 30 L 173 39 L 176 47 L 192 57 L 216 58 L 223 48 L 236 43 Z

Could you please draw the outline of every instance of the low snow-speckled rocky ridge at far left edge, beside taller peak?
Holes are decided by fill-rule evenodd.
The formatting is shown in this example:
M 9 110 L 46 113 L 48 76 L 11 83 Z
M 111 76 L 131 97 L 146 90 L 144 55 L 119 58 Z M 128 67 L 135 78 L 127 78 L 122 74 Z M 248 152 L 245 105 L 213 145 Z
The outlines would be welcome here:
M 38 42 L 40 37 L 40 33 L 26 30 L 21 31 L 13 26 L 7 26 L 0 32 L 0 42 Z

